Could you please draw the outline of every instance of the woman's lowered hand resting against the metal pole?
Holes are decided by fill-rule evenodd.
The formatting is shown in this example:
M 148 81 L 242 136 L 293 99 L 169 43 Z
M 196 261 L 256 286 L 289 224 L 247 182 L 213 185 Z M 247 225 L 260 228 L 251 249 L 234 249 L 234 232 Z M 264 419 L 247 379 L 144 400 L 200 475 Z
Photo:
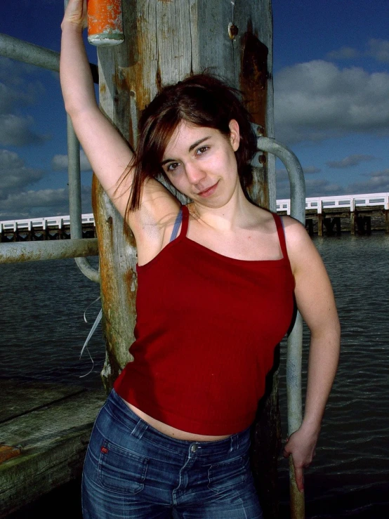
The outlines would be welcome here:
M 304 468 L 308 468 L 315 457 L 318 433 L 312 433 L 301 426 L 290 438 L 286 439 L 284 458 L 292 456 L 296 485 L 300 492 L 304 490 Z

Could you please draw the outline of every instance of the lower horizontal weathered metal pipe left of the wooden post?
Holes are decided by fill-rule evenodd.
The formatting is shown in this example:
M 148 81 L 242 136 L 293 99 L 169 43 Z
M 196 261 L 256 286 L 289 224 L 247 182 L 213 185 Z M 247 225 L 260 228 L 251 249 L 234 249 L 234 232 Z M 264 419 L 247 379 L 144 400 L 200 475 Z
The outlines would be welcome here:
M 13 242 L 0 246 L 0 263 L 97 256 L 96 238 L 55 239 L 42 242 Z

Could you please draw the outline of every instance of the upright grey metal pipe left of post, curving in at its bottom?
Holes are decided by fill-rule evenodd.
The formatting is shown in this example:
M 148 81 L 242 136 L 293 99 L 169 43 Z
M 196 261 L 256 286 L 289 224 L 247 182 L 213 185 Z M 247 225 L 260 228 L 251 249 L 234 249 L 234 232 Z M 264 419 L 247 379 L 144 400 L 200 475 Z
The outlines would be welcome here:
M 67 116 L 67 174 L 69 177 L 70 235 L 74 239 L 82 238 L 81 216 L 81 168 L 79 140 L 73 129 L 72 120 Z M 86 258 L 75 258 L 77 266 L 89 280 L 100 283 L 100 273 L 93 268 Z

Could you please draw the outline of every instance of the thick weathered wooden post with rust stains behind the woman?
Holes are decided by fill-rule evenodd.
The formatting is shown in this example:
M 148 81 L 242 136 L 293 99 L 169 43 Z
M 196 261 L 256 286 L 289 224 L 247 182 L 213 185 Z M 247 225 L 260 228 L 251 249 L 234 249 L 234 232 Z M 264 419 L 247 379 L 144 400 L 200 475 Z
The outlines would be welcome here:
M 140 112 L 161 86 L 206 69 L 239 88 L 261 133 L 273 136 L 271 0 L 129 0 L 122 6 L 124 44 L 98 48 L 100 106 L 131 145 L 135 145 Z M 274 175 L 274 157 L 261 155 L 251 197 L 273 210 Z M 136 249 L 97 180 L 93 202 L 107 343 L 102 376 L 110 388 L 130 359 L 136 320 Z M 258 487 L 265 517 L 276 518 L 277 387 L 270 393 L 254 426 L 253 471 L 257 480 L 263 474 Z M 267 454 L 266 461 L 258 462 L 260 452 Z

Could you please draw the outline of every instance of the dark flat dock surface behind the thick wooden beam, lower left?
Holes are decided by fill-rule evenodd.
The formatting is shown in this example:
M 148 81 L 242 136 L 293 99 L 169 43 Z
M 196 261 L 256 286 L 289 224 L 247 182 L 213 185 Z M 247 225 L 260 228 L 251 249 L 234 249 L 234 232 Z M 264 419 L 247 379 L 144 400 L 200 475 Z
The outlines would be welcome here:
M 0 379 L 0 423 L 83 391 L 63 384 Z

